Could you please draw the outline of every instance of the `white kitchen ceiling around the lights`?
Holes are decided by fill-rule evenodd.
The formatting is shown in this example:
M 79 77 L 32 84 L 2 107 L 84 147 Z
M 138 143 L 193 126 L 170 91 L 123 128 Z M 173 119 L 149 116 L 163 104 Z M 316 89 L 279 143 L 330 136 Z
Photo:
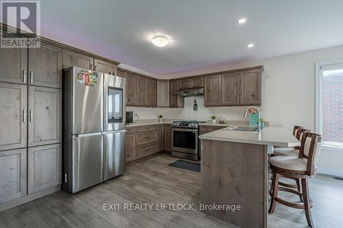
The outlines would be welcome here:
M 42 36 L 156 75 L 343 45 L 342 0 L 42 0 L 40 7 Z M 171 43 L 154 47 L 155 34 Z

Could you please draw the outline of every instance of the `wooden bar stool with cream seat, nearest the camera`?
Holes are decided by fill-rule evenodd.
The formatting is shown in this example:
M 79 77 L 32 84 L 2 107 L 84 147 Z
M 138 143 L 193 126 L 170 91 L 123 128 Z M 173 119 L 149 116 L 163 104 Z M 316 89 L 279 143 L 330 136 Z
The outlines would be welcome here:
M 320 153 L 322 136 L 305 131 L 303 139 L 305 143 L 300 146 L 299 157 L 274 156 L 270 157 L 270 168 L 272 169 L 272 201 L 270 203 L 269 213 L 274 213 L 276 202 L 283 205 L 305 210 L 306 220 L 309 227 L 314 227 L 311 217 L 312 200 L 309 198 L 309 187 L 307 179 L 317 173 L 316 164 Z M 279 187 L 280 175 L 300 179 L 302 190 Z M 303 203 L 292 203 L 277 197 L 279 191 L 291 192 L 297 194 L 303 199 Z

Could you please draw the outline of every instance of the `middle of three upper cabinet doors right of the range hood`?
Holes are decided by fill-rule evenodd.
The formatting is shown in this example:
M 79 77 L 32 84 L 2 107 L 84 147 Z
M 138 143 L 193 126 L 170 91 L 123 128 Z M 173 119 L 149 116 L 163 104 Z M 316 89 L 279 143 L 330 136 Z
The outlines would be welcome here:
M 239 104 L 239 72 L 222 75 L 222 105 Z

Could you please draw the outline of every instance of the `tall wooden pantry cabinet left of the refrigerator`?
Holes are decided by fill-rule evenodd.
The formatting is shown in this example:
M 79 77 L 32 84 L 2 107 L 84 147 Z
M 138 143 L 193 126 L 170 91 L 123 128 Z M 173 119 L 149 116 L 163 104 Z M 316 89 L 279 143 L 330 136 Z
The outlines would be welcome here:
M 62 54 L 0 49 L 0 210 L 62 182 Z

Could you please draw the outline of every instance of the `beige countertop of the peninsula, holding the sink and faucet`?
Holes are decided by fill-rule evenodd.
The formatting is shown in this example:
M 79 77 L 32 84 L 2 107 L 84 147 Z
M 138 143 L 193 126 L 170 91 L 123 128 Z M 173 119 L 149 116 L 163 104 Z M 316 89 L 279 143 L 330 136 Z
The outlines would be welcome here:
M 199 138 L 204 140 L 274 145 L 278 147 L 300 146 L 300 142 L 293 136 L 292 132 L 282 125 L 266 126 L 263 128 L 261 133 L 250 131 L 228 131 L 224 128 L 207 134 L 202 134 Z

